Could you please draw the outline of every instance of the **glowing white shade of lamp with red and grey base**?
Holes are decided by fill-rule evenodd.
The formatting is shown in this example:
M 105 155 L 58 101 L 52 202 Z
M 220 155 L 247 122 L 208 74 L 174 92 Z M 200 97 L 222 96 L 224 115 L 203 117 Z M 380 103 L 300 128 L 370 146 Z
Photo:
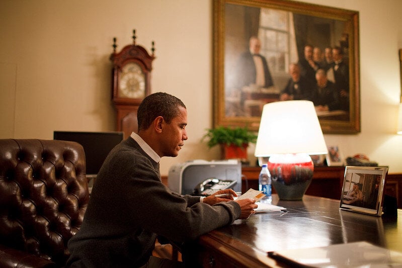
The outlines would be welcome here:
M 265 157 L 283 153 L 328 153 L 312 102 L 283 101 L 264 105 L 254 154 Z

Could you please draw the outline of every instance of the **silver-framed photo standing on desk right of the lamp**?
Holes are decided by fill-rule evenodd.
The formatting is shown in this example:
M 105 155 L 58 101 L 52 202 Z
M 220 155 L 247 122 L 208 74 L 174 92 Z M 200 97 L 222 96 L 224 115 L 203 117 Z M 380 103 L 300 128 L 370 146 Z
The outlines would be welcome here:
M 380 217 L 387 166 L 346 166 L 342 210 Z

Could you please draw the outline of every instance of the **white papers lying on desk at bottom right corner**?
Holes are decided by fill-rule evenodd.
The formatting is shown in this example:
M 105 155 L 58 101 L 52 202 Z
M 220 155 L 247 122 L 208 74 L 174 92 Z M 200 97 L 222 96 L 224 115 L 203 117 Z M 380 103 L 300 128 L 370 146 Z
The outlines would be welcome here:
M 307 267 L 400 267 L 402 253 L 365 241 L 269 252 L 269 256 Z M 304 266 L 306 267 L 306 266 Z

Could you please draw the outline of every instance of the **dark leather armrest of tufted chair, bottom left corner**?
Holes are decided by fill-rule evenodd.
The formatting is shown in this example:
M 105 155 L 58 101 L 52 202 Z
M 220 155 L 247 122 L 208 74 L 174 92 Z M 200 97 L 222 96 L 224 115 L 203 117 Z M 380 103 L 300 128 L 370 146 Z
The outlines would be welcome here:
M 0 267 L 56 267 L 56 263 L 34 254 L 0 245 Z

